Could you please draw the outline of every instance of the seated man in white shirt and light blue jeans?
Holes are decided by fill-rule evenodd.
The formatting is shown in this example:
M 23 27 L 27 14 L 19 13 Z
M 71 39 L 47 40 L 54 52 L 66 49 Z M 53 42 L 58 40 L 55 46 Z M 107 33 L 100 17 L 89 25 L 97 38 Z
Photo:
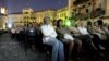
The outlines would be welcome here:
M 40 27 L 41 33 L 44 35 L 44 44 L 52 46 L 52 61 L 58 61 L 58 56 L 59 56 L 59 61 L 64 61 L 64 47 L 63 44 L 58 40 L 57 33 L 55 28 L 49 25 L 50 17 L 45 17 L 44 19 L 44 25 Z

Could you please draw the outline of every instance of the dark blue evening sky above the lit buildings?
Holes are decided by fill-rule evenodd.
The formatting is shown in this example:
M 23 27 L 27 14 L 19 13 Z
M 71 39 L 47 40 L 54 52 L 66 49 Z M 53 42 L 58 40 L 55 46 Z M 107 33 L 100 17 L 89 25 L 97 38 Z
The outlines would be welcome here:
M 34 11 L 59 9 L 66 4 L 68 0 L 7 0 L 9 13 L 22 12 L 24 8 L 32 8 Z

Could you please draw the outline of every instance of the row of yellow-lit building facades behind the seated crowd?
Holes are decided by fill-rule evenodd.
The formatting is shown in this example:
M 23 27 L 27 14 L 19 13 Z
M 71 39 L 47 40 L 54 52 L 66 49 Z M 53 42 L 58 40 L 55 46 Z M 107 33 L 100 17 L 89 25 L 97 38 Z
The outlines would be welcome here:
M 21 14 L 12 14 L 14 23 L 43 23 L 45 16 L 49 16 L 51 21 L 72 17 L 72 15 L 81 19 L 95 19 L 99 15 L 109 15 L 109 0 L 68 0 L 68 5 L 59 10 L 43 10 L 35 12 L 33 9 L 23 9 Z M 101 10 L 99 11 L 99 8 Z M 3 8 L 1 9 L 4 12 Z M 100 13 L 100 14 L 99 14 Z M 104 14 L 106 13 L 106 14 Z M 15 20 L 17 19 L 17 20 Z M 21 20 L 21 21 L 20 21 Z M 17 22 L 19 21 L 19 22 Z

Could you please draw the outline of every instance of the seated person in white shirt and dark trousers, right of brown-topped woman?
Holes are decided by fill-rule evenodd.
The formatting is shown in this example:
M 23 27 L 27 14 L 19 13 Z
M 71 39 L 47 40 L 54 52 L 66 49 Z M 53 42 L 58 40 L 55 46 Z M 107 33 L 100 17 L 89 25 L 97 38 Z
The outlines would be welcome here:
M 81 39 L 84 40 L 84 44 L 88 45 L 90 48 L 97 50 L 93 42 L 93 36 L 88 33 L 87 28 L 84 26 L 83 21 L 80 21 L 80 24 L 77 25 L 77 29 L 81 36 Z

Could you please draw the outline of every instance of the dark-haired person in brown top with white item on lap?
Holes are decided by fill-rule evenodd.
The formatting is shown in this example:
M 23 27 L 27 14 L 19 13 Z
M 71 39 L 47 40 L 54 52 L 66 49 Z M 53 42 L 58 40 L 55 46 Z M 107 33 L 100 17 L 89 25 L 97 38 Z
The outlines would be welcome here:
M 69 45 L 69 53 L 68 53 L 68 61 L 71 61 L 71 56 L 72 56 L 72 50 L 75 44 L 77 44 L 77 59 L 78 59 L 78 53 L 82 48 L 82 41 L 80 39 L 73 38 L 71 35 L 70 30 L 65 27 L 62 27 L 62 20 L 57 21 L 57 33 L 61 40 L 65 44 Z

